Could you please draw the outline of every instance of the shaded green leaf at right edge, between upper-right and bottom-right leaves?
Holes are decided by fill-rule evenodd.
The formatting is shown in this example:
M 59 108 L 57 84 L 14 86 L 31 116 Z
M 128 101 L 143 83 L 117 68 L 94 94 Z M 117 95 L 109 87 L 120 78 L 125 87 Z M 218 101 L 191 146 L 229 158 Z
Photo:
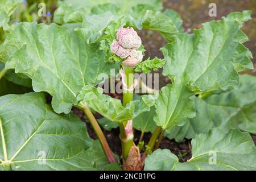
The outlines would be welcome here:
M 181 142 L 196 134 L 208 133 L 212 127 L 223 130 L 239 128 L 256 134 L 256 77 L 242 75 L 238 90 L 213 93 L 204 100 L 195 98 L 196 117 L 182 127 L 167 130 L 166 136 Z

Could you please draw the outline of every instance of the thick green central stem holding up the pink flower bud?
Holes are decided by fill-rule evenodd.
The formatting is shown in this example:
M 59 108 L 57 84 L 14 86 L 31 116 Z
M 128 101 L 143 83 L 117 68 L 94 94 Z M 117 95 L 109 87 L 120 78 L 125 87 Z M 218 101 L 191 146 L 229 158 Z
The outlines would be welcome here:
M 123 106 L 126 106 L 129 102 L 133 101 L 133 84 L 134 84 L 134 68 L 126 67 L 122 65 L 123 71 L 125 72 L 125 77 L 123 79 Z M 133 147 L 133 123 L 130 121 L 129 126 L 127 126 L 128 121 L 120 123 L 120 138 L 122 142 L 122 156 L 126 159 L 131 147 Z M 126 128 L 126 126 L 128 128 Z M 130 127 L 130 129 L 129 129 Z

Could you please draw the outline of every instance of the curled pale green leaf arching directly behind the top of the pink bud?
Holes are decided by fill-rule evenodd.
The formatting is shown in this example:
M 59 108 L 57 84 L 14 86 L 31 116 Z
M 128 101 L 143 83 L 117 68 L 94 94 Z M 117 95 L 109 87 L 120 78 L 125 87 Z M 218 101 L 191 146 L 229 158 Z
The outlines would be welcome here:
M 154 11 L 148 5 L 134 6 L 128 14 L 106 11 L 102 14 L 85 15 L 82 24 L 82 28 L 78 30 L 88 38 L 88 43 L 105 39 L 110 39 L 108 42 L 112 43 L 117 30 L 122 26 L 158 31 L 167 41 L 173 40 L 173 36 L 178 33 L 170 17 Z M 106 30 L 108 27 L 114 31 L 109 33 Z

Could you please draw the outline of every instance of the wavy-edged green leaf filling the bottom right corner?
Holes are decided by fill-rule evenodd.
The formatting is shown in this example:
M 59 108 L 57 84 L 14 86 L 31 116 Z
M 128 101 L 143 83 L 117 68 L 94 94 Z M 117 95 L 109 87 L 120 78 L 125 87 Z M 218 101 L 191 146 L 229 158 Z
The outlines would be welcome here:
M 192 139 L 192 158 L 179 163 L 170 150 L 156 150 L 146 158 L 145 170 L 256 170 L 256 148 L 248 133 L 237 129 L 228 134 L 213 129 Z M 216 157 L 216 158 L 215 158 Z M 216 161 L 214 161 L 214 158 Z M 216 163 L 215 163 L 216 162 Z

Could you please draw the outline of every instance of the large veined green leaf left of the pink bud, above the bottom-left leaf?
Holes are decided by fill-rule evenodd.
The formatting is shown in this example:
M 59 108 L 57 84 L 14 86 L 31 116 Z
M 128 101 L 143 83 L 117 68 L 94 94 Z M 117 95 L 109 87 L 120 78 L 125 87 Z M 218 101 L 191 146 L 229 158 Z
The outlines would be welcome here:
M 101 82 L 98 75 L 116 67 L 104 63 L 99 44 L 88 45 L 76 32 L 56 24 L 19 23 L 4 46 L 10 55 L 6 67 L 32 78 L 35 92 L 51 94 L 57 113 L 69 113 L 83 86 Z

